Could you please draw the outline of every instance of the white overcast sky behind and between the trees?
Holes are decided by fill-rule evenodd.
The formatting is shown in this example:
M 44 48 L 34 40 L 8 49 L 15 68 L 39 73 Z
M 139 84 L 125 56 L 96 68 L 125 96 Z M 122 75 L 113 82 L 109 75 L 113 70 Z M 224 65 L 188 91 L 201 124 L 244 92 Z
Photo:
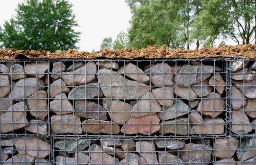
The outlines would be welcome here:
M 15 15 L 18 3 L 24 0 L 1 0 L 0 25 Z M 121 31 L 127 31 L 131 18 L 130 9 L 125 0 L 69 0 L 82 32 L 77 46 L 80 50 L 99 50 L 105 37 L 115 40 Z M 4 5 L 3 5 L 4 4 Z

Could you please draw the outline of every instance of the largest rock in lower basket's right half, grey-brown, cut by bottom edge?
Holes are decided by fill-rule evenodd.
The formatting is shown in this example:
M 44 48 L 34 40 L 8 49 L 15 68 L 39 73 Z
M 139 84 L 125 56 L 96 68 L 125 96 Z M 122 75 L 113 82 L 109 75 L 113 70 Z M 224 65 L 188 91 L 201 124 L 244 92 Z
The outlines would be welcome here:
M 211 156 L 211 147 L 205 144 L 185 144 L 179 151 L 180 158 L 189 165 L 208 165 Z

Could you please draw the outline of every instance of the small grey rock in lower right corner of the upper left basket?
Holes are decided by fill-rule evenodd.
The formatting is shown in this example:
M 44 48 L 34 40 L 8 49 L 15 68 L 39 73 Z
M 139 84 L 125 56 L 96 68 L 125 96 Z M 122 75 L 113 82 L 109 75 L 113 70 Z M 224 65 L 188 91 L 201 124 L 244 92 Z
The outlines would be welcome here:
M 29 124 L 26 126 L 26 130 L 41 135 L 48 134 L 47 123 L 42 120 L 30 120 Z

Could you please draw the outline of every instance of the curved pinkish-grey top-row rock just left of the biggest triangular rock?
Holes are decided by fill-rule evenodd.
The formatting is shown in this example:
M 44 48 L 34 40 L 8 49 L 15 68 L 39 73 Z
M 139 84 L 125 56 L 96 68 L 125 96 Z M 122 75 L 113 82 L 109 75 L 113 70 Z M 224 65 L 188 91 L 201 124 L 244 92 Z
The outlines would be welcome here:
M 95 79 L 97 67 L 94 62 L 88 62 L 86 65 L 70 72 L 63 72 L 62 79 L 68 85 L 82 85 L 90 83 Z

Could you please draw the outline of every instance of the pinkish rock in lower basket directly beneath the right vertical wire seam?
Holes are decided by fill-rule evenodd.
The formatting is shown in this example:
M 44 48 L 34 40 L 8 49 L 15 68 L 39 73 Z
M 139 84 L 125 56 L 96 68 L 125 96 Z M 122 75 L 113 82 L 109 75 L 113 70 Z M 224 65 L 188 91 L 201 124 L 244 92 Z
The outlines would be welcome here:
M 213 157 L 231 158 L 238 149 L 239 140 L 235 138 L 217 138 L 213 144 Z

